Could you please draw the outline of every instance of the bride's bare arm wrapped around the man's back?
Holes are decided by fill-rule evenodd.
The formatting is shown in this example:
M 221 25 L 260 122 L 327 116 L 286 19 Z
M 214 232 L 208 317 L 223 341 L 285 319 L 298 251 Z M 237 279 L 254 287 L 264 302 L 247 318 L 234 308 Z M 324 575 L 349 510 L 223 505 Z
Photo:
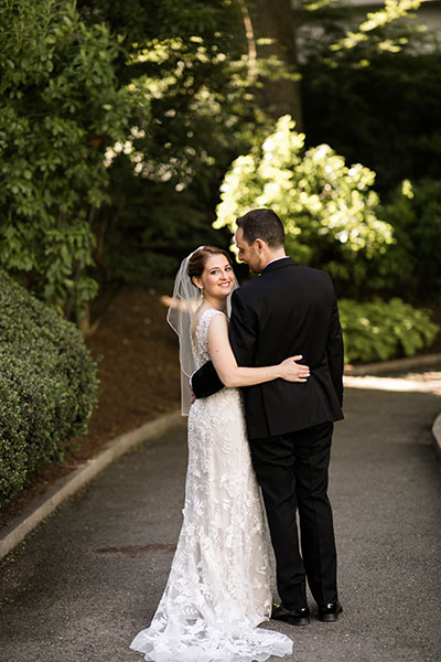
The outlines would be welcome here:
M 227 387 L 252 386 L 282 378 L 288 382 L 306 382 L 310 375 L 308 365 L 298 365 L 301 356 L 290 356 L 278 365 L 265 367 L 238 366 L 228 340 L 228 324 L 225 316 L 216 314 L 208 328 L 209 356 L 222 383 Z

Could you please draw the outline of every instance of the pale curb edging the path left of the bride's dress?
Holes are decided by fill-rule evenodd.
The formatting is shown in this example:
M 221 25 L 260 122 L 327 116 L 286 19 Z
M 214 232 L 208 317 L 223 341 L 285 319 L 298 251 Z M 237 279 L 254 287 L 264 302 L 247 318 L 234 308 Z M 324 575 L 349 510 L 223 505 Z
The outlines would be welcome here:
M 0 559 L 4 558 L 43 520 L 51 515 L 66 499 L 73 496 L 111 462 L 139 446 L 179 427 L 185 426 L 181 412 L 164 414 L 144 423 L 139 428 L 123 433 L 109 441 L 106 448 L 72 473 L 57 480 L 42 496 L 35 499 L 0 532 Z

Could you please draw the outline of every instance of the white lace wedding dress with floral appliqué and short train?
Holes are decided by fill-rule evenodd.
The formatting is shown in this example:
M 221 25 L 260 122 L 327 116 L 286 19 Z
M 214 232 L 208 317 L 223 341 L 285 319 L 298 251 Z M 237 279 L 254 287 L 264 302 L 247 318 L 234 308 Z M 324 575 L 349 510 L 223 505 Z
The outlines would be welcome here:
M 196 329 L 208 359 L 206 310 Z M 183 524 L 169 580 L 150 624 L 130 648 L 154 662 L 251 662 L 292 651 L 284 634 L 257 628 L 271 611 L 271 570 L 261 501 L 237 388 L 198 399 L 189 414 Z

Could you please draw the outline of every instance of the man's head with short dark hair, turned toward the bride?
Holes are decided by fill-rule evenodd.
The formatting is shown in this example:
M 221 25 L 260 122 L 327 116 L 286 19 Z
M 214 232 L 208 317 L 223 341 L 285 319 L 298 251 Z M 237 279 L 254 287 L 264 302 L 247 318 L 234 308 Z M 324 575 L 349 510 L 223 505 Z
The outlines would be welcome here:
M 251 210 L 236 223 L 238 258 L 247 263 L 250 271 L 260 274 L 269 261 L 284 255 L 283 225 L 271 210 Z

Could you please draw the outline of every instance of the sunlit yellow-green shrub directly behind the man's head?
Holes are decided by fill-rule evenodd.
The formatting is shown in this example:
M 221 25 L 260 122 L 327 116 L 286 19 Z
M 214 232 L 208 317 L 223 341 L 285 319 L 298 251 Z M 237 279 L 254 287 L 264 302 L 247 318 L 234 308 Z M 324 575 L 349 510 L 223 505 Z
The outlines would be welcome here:
M 289 116 L 249 154 L 236 159 L 220 188 L 219 228 L 252 207 L 270 207 L 286 229 L 287 252 L 300 263 L 331 274 L 347 291 L 366 287 L 372 263 L 394 242 L 392 228 L 377 217 L 375 173 L 346 166 L 327 145 L 304 151 L 304 135 Z

